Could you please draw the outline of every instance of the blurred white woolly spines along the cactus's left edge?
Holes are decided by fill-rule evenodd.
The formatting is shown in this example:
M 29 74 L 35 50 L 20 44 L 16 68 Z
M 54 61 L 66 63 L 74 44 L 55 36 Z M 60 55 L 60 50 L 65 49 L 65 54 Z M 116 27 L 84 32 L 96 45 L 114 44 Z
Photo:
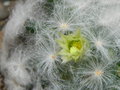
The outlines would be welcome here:
M 16 42 L 18 36 L 25 31 L 25 22 L 33 16 L 36 4 L 42 0 L 18 1 L 12 11 L 9 21 L 4 27 L 4 40 L 1 55 L 1 71 L 5 76 L 7 90 L 26 90 L 32 83 L 28 73 L 27 61 L 30 59 L 29 51 Z M 41 9 L 39 7 L 39 9 Z M 41 12 L 42 14 L 42 12 Z M 26 52 L 27 51 L 27 52 Z

